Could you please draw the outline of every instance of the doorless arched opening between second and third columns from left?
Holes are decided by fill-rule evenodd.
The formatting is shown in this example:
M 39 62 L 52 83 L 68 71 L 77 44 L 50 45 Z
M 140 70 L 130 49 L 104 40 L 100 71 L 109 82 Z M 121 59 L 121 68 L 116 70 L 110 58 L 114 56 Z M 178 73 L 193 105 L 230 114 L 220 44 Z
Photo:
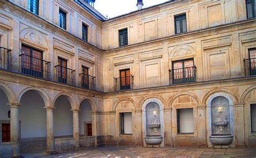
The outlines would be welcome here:
M 53 110 L 53 132 L 55 138 L 73 137 L 73 113 L 67 96 L 59 96 Z

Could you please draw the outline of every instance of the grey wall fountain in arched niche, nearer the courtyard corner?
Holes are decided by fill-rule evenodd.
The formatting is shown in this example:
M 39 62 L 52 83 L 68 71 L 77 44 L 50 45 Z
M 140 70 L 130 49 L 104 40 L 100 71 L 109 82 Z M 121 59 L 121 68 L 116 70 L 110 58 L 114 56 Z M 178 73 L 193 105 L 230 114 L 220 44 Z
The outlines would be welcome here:
M 159 147 L 163 142 L 160 106 L 156 102 L 146 104 L 144 115 L 144 140 L 146 146 Z

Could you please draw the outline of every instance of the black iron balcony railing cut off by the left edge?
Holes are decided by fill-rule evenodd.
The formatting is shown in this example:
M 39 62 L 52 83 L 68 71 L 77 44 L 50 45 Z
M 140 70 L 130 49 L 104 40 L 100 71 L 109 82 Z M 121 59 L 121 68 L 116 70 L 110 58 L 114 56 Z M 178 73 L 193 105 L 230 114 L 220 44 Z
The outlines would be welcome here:
M 0 47 L 0 68 L 11 69 L 11 51 L 12 49 Z

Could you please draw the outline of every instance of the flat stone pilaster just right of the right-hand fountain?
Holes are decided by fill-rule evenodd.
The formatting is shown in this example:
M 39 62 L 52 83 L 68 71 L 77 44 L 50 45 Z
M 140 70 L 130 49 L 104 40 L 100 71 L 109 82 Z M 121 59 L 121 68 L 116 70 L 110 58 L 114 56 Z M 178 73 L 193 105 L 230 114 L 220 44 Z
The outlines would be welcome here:
M 245 103 L 235 103 L 234 108 L 234 131 L 235 146 L 246 146 L 245 143 L 245 116 L 244 116 Z M 233 127 L 230 127 L 233 128 Z

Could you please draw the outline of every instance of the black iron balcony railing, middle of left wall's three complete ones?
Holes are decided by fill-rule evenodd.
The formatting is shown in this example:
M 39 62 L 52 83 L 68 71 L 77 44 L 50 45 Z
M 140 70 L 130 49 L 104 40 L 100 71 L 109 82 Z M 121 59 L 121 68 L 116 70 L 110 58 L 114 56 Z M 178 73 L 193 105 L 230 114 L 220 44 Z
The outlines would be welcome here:
M 76 70 L 56 65 L 56 81 L 75 85 Z

